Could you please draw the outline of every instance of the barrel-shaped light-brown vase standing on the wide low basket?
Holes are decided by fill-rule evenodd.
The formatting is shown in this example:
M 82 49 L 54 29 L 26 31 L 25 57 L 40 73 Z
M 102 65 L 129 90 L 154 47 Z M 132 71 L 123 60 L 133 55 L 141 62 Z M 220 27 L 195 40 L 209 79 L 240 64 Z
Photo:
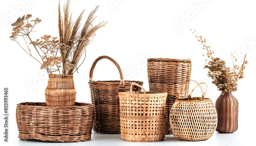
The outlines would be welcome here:
M 47 106 L 75 105 L 76 89 L 73 75 L 49 74 L 49 81 L 45 90 Z

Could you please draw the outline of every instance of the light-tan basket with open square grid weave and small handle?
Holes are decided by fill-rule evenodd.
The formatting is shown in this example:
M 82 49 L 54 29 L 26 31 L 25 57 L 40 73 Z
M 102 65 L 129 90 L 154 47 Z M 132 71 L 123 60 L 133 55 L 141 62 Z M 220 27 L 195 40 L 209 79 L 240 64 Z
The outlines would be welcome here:
M 164 139 L 165 101 L 167 93 L 120 92 L 121 138 L 133 142 L 154 142 Z

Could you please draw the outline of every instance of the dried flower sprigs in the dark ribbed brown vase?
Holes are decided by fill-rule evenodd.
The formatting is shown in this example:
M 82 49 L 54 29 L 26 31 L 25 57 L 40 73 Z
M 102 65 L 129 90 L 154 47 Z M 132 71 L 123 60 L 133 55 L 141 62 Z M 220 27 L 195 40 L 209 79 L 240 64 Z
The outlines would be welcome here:
M 237 62 L 237 59 L 231 54 L 232 60 L 233 60 L 233 69 L 226 66 L 226 63 L 224 60 L 221 60 L 218 57 L 214 57 L 214 51 L 210 49 L 210 46 L 206 45 L 206 40 L 202 39 L 202 36 L 199 35 L 199 33 L 195 30 L 191 30 L 197 40 L 203 45 L 203 49 L 206 50 L 206 54 L 203 54 L 203 56 L 206 56 L 206 63 L 207 65 L 204 66 L 204 68 L 208 68 L 208 77 L 210 77 L 213 81 L 212 83 L 215 84 L 220 91 L 222 91 L 222 94 L 224 92 L 231 93 L 232 91 L 236 91 L 238 89 L 238 80 L 244 78 L 244 69 L 245 64 L 248 63 L 247 60 L 245 60 L 242 66 L 235 65 L 235 62 Z

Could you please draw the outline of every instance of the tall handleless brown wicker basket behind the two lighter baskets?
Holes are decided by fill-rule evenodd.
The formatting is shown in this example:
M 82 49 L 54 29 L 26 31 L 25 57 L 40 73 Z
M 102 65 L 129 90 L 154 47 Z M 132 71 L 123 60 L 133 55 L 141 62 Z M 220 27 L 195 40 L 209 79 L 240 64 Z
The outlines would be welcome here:
M 178 89 L 183 82 L 190 80 L 190 59 L 147 59 L 147 77 L 150 91 L 167 92 L 165 134 L 172 134 L 169 125 L 169 111 L 172 108 Z M 181 89 L 181 96 L 188 93 L 189 84 Z

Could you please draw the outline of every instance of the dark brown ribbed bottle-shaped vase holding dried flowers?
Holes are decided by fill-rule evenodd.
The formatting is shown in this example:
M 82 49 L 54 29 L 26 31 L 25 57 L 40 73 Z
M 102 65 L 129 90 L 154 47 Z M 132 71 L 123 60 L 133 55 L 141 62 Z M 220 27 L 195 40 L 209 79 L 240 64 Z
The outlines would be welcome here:
M 216 131 L 233 133 L 238 130 L 238 100 L 231 93 L 221 94 L 216 101 L 218 125 Z

